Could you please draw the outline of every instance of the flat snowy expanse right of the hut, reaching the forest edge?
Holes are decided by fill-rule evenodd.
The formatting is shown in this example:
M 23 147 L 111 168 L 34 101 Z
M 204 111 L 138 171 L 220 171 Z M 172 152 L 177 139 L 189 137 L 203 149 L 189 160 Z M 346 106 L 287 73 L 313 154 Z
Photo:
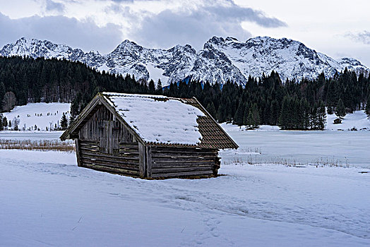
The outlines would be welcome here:
M 240 146 L 237 152 L 222 151 L 223 159 L 225 162 L 325 164 L 370 169 L 370 120 L 364 111 L 347 114 L 341 124 L 333 124 L 336 118 L 335 114 L 327 116 L 326 131 L 280 131 L 278 126 L 246 131 L 244 126 L 222 123 L 222 128 Z M 358 131 L 348 131 L 351 128 Z

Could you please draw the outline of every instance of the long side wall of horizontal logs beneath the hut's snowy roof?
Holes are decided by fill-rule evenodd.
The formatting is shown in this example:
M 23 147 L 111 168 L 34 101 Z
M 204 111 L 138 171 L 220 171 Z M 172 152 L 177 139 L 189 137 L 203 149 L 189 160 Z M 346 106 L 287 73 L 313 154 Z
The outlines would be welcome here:
M 151 147 L 151 177 L 211 176 L 217 174 L 218 150 Z

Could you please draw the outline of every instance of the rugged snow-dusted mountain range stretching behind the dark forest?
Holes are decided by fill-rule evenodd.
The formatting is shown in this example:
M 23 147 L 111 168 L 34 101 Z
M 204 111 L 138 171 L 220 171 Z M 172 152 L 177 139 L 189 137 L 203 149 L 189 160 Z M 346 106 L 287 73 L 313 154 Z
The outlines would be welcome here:
M 259 77 L 273 70 L 280 74 L 282 80 L 316 78 L 321 72 L 330 77 L 345 67 L 357 73 L 370 72 L 356 59 L 336 61 L 306 47 L 302 42 L 271 37 L 254 37 L 246 42 L 233 37 L 212 37 L 198 52 L 189 44 L 171 49 L 148 49 L 125 40 L 109 54 L 96 51 L 85 53 L 65 44 L 23 37 L 13 44 L 6 44 L 0 50 L 0 55 L 81 61 L 100 71 L 123 75 L 129 73 L 136 79 L 160 79 L 162 85 L 189 76 L 211 83 L 233 80 L 244 84 L 249 76 Z

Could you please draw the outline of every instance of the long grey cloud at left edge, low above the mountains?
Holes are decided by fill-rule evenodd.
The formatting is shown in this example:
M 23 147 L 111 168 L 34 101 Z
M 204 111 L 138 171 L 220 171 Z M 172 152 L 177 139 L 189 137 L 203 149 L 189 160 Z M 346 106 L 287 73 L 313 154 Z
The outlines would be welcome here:
M 65 16 L 32 16 L 13 20 L 0 13 L 0 47 L 20 37 L 49 40 L 83 49 L 112 52 L 122 40 L 119 25 L 98 27 L 92 20 L 79 21 Z

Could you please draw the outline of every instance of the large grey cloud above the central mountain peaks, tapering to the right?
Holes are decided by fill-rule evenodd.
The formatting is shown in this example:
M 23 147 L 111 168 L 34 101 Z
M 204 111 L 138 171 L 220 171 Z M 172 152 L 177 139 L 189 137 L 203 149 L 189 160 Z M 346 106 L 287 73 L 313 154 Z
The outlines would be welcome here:
M 286 26 L 277 18 L 266 17 L 261 11 L 243 8 L 230 1 L 228 6 L 206 5 L 184 11 L 165 10 L 149 16 L 141 22 L 141 28 L 133 30 L 133 39 L 150 47 L 172 47 L 175 44 L 191 44 L 196 49 L 210 37 L 232 36 L 246 40 L 251 33 L 241 27 L 241 22 L 249 21 L 264 28 Z

